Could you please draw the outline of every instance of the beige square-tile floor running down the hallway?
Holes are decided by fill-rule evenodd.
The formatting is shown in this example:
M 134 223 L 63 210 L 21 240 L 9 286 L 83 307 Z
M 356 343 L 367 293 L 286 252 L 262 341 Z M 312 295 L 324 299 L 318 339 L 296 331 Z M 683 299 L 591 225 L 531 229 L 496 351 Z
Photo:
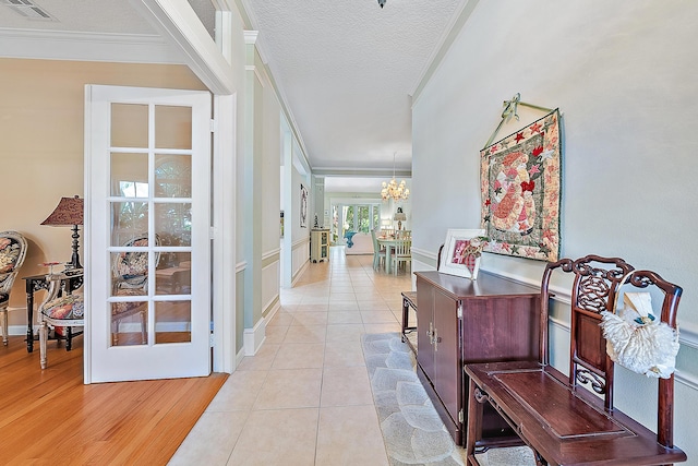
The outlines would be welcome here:
M 411 274 L 330 248 L 310 264 L 170 461 L 171 465 L 382 466 L 387 455 L 362 333 L 399 332 Z M 409 267 L 409 266 L 408 266 Z

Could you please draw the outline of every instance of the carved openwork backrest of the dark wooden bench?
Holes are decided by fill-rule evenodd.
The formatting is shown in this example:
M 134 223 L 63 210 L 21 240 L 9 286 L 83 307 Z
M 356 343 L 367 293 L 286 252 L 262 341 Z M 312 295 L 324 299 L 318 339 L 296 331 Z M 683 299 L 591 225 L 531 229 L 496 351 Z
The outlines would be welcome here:
M 676 327 L 676 310 L 682 288 L 664 280 L 654 272 L 636 271 L 618 258 L 587 255 L 576 261 L 563 259 L 549 263 L 541 287 L 541 362 L 549 363 L 547 314 L 550 280 L 553 271 L 574 275 L 571 287 L 569 379 L 571 387 L 590 389 L 603 397 L 604 408 L 613 410 L 614 362 L 606 354 L 606 339 L 601 328 L 601 312 L 614 311 L 618 288 L 625 284 L 647 288 L 662 297 L 661 321 Z M 659 314 L 659 312 L 658 312 Z M 674 375 L 659 379 L 658 442 L 673 446 Z

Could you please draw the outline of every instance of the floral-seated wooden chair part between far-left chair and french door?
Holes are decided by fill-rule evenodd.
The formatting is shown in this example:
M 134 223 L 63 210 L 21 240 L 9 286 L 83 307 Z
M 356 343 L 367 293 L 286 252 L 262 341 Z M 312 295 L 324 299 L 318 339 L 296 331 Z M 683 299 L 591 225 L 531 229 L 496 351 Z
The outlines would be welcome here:
M 82 295 L 62 295 L 61 284 L 68 279 L 63 273 L 49 273 L 46 280 L 49 284 L 48 295 L 39 304 L 39 362 L 41 369 L 48 367 L 47 342 L 48 326 L 67 330 L 68 343 L 65 350 L 70 351 L 70 338 L 74 334 L 73 328 L 85 326 L 85 302 Z

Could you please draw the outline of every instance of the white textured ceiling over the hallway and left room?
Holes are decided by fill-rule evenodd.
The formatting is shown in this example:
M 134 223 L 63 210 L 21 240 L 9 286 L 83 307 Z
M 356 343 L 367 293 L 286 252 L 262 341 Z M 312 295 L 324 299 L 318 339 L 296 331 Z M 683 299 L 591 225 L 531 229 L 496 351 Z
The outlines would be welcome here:
M 29 20 L 0 0 L 0 29 L 157 35 L 135 0 L 33 1 L 52 19 Z M 188 1 L 213 36 L 212 0 Z M 239 1 L 315 172 L 411 171 L 410 94 L 467 0 Z M 373 191 L 380 180 L 333 184 Z

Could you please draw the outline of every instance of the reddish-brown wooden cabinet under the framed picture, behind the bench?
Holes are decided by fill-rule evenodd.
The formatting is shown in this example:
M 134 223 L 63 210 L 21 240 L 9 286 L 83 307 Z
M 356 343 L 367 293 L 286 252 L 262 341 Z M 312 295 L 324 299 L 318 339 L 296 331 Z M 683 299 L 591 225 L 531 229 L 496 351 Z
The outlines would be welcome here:
M 456 444 L 465 445 L 470 362 L 538 360 L 540 289 L 481 272 L 477 280 L 417 275 L 417 373 Z M 520 440 L 494 410 L 478 446 Z

